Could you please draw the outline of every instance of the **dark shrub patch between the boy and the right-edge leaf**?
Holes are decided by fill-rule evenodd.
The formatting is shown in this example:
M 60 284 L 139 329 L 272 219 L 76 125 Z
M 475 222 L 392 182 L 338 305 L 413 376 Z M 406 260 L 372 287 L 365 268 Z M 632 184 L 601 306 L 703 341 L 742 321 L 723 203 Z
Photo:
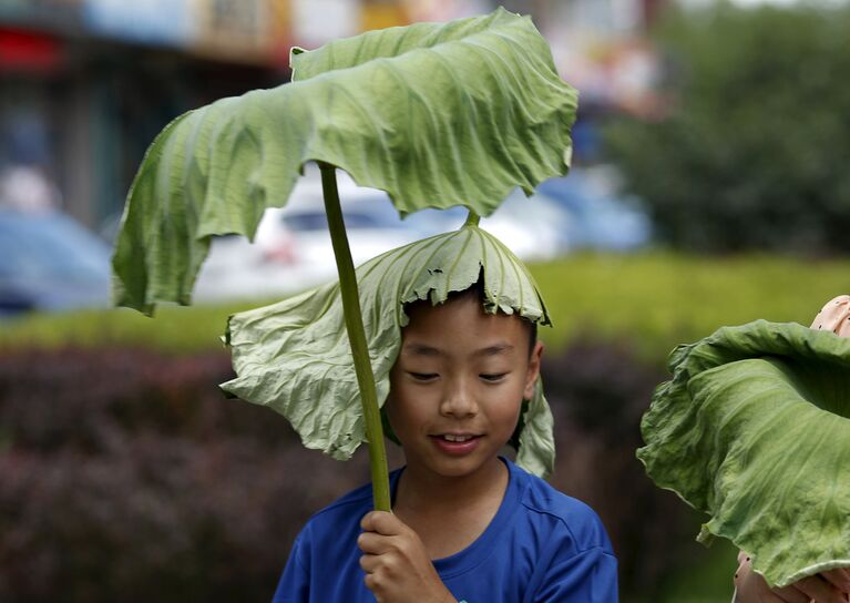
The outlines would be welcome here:
M 665 374 L 636 361 L 625 345 L 586 338 L 549 358 L 542 372 L 556 426 L 551 481 L 602 518 L 624 597 L 654 594 L 673 568 L 693 560 L 697 531 L 682 501 L 659 490 L 635 457 L 641 417 Z

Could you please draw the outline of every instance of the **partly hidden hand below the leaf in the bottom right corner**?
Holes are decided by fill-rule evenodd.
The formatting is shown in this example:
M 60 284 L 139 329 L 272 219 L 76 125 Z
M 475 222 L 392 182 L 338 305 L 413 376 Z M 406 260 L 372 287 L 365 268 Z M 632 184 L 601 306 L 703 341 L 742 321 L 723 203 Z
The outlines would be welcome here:
M 839 568 L 818 575 L 803 578 L 784 589 L 770 589 L 756 572 L 744 551 L 738 555 L 735 573 L 737 596 L 735 603 L 846 603 L 850 592 L 850 571 Z

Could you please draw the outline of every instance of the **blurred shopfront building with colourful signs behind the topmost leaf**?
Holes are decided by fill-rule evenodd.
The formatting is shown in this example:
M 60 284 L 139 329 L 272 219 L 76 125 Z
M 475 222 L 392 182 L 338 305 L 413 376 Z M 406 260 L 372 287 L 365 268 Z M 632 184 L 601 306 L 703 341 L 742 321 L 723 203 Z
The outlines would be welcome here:
M 587 103 L 641 108 L 662 0 L 509 0 Z M 288 80 L 294 44 L 492 10 L 492 0 L 0 0 L 0 180 L 20 168 L 93 228 L 184 111 Z M 622 101 L 622 102 L 621 102 Z M 31 180 L 32 180 L 31 177 Z M 18 178 L 21 180 L 20 177 Z M 25 180 L 25 178 L 24 178 Z

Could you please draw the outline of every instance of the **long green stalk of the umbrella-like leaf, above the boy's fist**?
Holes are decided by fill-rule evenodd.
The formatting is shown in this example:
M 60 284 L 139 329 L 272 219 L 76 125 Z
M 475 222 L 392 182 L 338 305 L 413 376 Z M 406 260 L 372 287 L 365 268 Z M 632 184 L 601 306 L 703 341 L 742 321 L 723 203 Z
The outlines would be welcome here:
M 336 167 L 328 163 L 319 162 L 319 170 L 321 170 L 321 192 L 325 197 L 325 212 L 328 216 L 330 241 L 334 245 L 334 256 L 336 257 L 337 272 L 339 273 L 339 290 L 342 294 L 346 330 L 348 331 L 348 341 L 351 345 L 357 385 L 360 388 L 360 400 L 363 406 L 375 509 L 378 511 L 390 511 L 390 481 L 387 471 L 387 450 L 383 447 L 381 412 L 378 408 L 375 375 L 372 374 L 369 346 L 366 343 L 366 333 L 363 330 L 363 315 L 360 311 L 357 275 L 355 274 L 355 265 L 351 260 L 351 251 L 348 247 L 342 209 L 339 206 Z

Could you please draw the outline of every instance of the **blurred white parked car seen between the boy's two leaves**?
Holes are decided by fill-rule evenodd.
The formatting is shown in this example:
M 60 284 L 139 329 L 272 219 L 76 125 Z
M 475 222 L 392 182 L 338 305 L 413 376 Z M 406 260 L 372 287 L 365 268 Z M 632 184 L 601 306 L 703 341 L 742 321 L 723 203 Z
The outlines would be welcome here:
M 344 172 L 338 172 L 337 181 L 355 265 L 413 241 L 457 229 L 467 218 L 467 209 L 460 206 L 422 209 L 401 218 L 386 192 L 357 186 Z M 496 213 L 481 221 L 481 226 L 520 257 L 536 260 L 563 253 L 569 222 L 569 215 L 551 200 L 525 198 L 515 191 Z M 194 299 L 270 297 L 336 277 L 318 170 L 308 165 L 287 205 L 266 209 L 253 244 L 235 236 L 214 239 Z

